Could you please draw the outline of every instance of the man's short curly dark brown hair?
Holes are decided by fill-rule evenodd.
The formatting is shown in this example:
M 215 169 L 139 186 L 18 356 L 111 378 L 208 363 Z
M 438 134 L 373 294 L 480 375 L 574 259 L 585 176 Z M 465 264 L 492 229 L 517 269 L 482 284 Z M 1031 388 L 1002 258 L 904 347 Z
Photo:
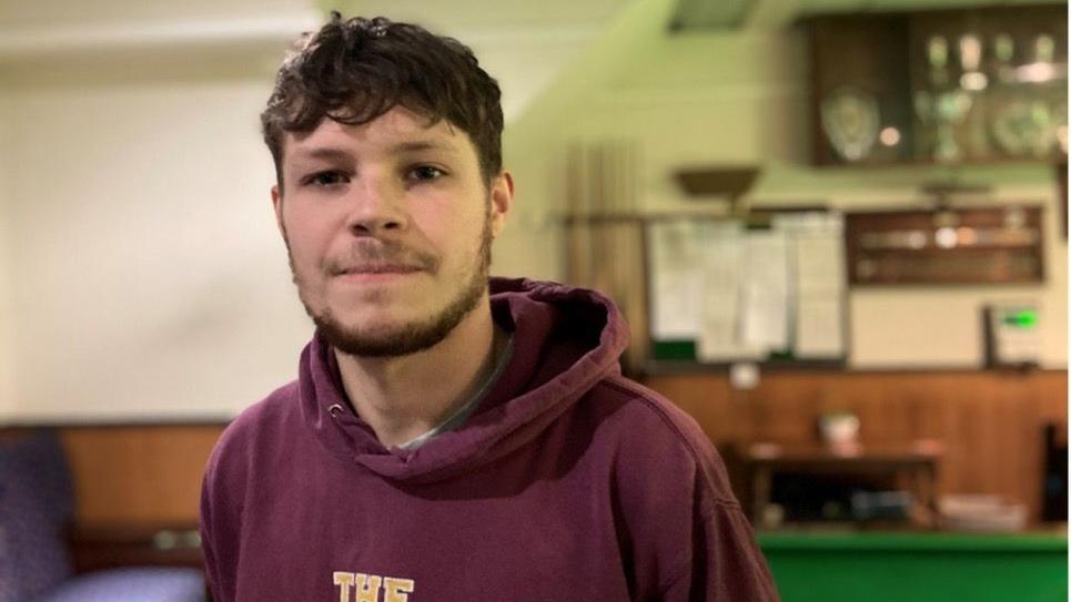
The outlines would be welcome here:
M 343 20 L 332 11 L 283 61 L 261 113 L 264 142 L 283 184 L 285 132 L 307 133 L 324 118 L 361 125 L 396 105 L 446 120 L 472 139 L 485 182 L 502 171 L 502 92 L 473 51 L 453 38 L 384 17 Z

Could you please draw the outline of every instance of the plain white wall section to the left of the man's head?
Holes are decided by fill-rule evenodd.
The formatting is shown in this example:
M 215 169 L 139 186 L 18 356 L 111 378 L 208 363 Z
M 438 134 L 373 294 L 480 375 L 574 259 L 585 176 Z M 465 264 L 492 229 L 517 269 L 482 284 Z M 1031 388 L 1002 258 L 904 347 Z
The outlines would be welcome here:
M 10 94 L 10 415 L 226 415 L 310 328 L 272 218 L 264 81 Z

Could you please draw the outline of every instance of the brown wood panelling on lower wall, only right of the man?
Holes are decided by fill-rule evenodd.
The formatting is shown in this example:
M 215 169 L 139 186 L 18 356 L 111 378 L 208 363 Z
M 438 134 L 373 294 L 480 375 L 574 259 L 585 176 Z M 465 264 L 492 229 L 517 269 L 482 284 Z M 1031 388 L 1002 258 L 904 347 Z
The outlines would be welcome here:
M 846 410 L 863 445 L 943 445 L 941 493 L 994 493 L 1040 512 L 1043 427 L 1067 425 L 1065 371 L 777 371 L 748 391 L 724 374 L 663 375 L 645 384 L 690 414 L 716 445 L 819 442 L 816 420 Z

